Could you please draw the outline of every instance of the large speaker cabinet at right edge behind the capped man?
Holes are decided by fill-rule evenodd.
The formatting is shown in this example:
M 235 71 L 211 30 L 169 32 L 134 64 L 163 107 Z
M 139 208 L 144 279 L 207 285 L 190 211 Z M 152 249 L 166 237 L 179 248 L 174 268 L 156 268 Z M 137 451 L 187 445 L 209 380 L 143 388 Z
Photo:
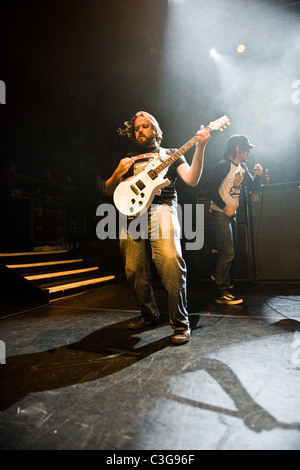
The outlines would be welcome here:
M 300 182 L 249 195 L 255 279 L 300 280 Z

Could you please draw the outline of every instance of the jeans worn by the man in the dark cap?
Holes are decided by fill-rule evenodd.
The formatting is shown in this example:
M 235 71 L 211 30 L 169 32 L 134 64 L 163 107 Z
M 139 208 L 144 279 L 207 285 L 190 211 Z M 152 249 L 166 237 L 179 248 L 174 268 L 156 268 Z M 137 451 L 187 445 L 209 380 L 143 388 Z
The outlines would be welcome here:
M 235 256 L 237 240 L 236 217 L 227 217 L 224 212 L 212 211 L 210 214 L 217 249 L 217 262 L 214 277 L 218 295 L 228 293 L 230 270 Z

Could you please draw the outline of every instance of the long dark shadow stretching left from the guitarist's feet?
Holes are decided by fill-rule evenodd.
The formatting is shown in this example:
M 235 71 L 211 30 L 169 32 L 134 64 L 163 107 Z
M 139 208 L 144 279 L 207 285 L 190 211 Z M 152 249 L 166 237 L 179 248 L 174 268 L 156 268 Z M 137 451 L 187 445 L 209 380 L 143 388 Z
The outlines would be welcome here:
M 170 346 L 170 336 L 138 347 L 128 320 L 94 331 L 80 341 L 7 358 L 0 369 L 0 410 L 30 393 L 54 390 L 112 375 Z

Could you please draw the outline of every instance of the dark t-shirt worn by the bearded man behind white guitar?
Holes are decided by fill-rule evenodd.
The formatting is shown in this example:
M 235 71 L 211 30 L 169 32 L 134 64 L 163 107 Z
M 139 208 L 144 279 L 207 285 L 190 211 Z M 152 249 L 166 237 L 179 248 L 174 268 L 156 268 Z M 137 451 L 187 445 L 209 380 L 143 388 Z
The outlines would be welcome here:
M 176 152 L 177 149 L 161 149 L 159 147 L 151 147 L 149 149 L 143 149 L 143 153 L 130 153 L 126 157 L 137 157 L 130 170 L 124 175 L 124 179 L 129 178 L 130 176 L 136 175 L 143 171 L 147 163 L 153 158 L 159 159 L 160 161 L 165 161 L 170 155 Z M 186 163 L 186 159 L 183 155 L 179 157 L 174 163 L 169 166 L 165 178 L 170 181 L 170 184 L 161 190 L 155 195 L 153 199 L 153 204 L 169 204 L 172 205 L 172 201 L 177 201 L 177 192 L 175 188 L 175 183 L 177 180 L 177 168 Z

